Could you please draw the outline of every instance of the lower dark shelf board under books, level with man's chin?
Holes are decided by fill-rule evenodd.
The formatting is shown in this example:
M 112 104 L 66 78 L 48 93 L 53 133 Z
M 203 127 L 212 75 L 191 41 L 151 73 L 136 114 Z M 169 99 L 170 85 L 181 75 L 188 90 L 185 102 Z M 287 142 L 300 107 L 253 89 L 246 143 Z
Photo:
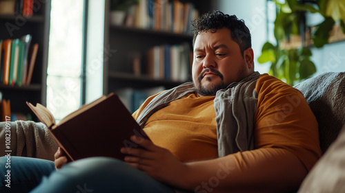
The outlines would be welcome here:
M 133 81 L 133 82 L 147 82 L 147 83 L 160 83 L 160 84 L 182 84 L 186 81 L 174 81 L 174 80 L 166 80 L 166 79 L 155 79 L 151 78 L 150 76 L 137 76 L 132 73 L 121 73 L 121 72 L 109 72 L 108 78 L 117 79 L 117 80 L 125 80 L 125 81 Z

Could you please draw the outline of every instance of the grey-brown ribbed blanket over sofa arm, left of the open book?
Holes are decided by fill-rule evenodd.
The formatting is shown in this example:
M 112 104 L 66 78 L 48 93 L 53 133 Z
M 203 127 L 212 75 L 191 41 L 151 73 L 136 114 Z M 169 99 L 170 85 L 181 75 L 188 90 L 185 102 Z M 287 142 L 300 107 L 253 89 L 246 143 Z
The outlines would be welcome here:
M 37 157 L 54 160 L 57 143 L 50 135 L 46 126 L 36 122 L 9 122 L 10 149 L 6 148 L 6 122 L 0 122 L 0 152 L 6 155 L 11 150 L 11 156 Z M 6 152 L 6 154 L 5 154 Z M 1 155 L 3 156 L 3 155 Z

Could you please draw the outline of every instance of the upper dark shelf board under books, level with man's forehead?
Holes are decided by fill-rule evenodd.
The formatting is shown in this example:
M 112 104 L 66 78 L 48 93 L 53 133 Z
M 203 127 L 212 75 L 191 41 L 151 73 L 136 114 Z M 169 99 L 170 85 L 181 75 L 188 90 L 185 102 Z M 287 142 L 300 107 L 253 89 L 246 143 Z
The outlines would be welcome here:
M 126 31 L 126 32 L 134 32 L 138 34 L 148 34 L 152 36 L 166 36 L 169 38 L 186 38 L 190 40 L 190 38 L 193 38 L 193 34 L 186 34 L 186 33 L 181 33 L 177 34 L 175 32 L 171 31 L 163 31 L 163 30 L 152 30 L 152 29 L 146 29 L 146 28 L 138 28 L 138 27 L 127 27 L 123 25 L 110 25 L 110 29 L 112 30 L 121 30 L 121 31 Z

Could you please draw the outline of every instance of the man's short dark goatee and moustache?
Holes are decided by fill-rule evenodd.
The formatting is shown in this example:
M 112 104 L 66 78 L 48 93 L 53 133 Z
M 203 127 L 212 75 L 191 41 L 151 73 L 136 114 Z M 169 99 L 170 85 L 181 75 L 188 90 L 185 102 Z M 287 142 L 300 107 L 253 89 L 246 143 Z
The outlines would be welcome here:
M 217 76 L 219 76 L 219 78 L 221 79 L 221 83 L 220 84 L 217 84 L 217 85 L 210 85 L 209 87 L 202 87 L 201 86 L 201 79 L 203 78 L 204 76 L 204 73 L 206 72 L 213 72 L 215 73 Z M 207 81 L 210 81 L 211 78 L 206 78 Z M 197 81 L 198 81 L 198 85 L 196 86 L 195 85 L 195 82 L 194 82 L 194 88 L 195 88 L 195 91 L 199 94 L 199 95 L 202 95 L 202 96 L 213 96 L 217 93 L 217 91 L 221 90 L 221 89 L 226 89 L 226 87 L 228 87 L 228 85 L 225 84 L 224 82 L 224 76 L 219 72 L 219 71 L 216 71 L 214 69 L 205 69 L 202 73 L 200 73 L 200 75 L 198 76 L 197 78 Z

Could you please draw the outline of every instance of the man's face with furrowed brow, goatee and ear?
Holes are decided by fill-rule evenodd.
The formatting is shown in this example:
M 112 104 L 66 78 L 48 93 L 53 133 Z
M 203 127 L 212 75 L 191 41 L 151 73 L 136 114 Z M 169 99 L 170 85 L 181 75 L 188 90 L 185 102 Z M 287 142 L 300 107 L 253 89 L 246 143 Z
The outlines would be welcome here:
M 254 71 L 253 49 L 246 49 L 242 57 L 228 28 L 212 32 L 201 32 L 195 39 L 192 73 L 199 95 L 215 95 Z

